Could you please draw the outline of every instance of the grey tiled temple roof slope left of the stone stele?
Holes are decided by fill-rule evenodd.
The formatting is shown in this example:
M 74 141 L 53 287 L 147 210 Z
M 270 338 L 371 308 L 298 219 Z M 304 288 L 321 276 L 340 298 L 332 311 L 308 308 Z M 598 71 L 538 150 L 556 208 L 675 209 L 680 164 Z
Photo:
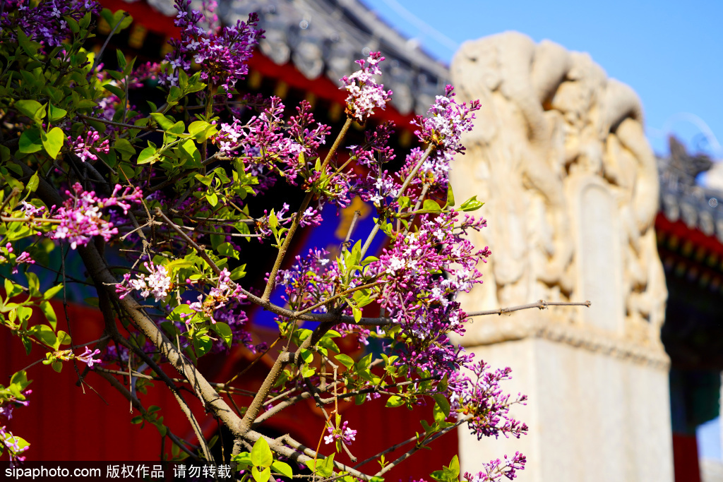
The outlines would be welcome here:
M 172 0 L 147 1 L 163 14 L 176 14 Z M 356 59 L 381 51 L 382 83 L 393 90 L 392 105 L 403 115 L 426 113 L 450 83 L 444 64 L 359 0 L 219 0 L 226 25 L 247 20 L 251 12 L 266 32 L 260 51 L 278 65 L 291 61 L 307 79 L 324 75 L 341 85 L 339 79 L 357 69 Z

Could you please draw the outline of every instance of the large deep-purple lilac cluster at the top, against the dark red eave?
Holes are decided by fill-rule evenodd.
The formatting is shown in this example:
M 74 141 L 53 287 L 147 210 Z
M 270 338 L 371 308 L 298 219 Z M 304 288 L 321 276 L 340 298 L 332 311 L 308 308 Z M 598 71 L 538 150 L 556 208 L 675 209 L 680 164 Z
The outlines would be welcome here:
M 201 66 L 201 79 L 217 87 L 223 87 L 231 98 L 231 90 L 236 81 L 243 79 L 249 72 L 247 62 L 262 30 L 255 30 L 258 22 L 256 14 L 250 14 L 248 22 L 236 22 L 236 25 L 221 28 L 218 33 L 200 27 L 205 20 L 202 12 L 188 8 L 191 0 L 176 0 L 174 7 L 176 27 L 181 29 L 181 39 L 171 40 L 174 50 L 168 53 L 166 61 L 171 72 L 163 74 L 160 80 L 166 85 L 178 85 L 178 70 L 188 71 L 191 61 Z

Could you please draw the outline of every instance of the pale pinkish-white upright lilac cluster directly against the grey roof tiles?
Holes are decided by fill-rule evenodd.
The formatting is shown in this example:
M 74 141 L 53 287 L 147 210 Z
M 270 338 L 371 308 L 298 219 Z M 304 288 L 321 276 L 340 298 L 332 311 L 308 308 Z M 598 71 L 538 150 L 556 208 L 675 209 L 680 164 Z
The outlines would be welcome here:
M 364 124 L 375 108 L 384 109 L 390 100 L 392 91 L 385 92 L 384 86 L 377 84 L 374 75 L 382 74 L 379 64 L 384 57 L 381 52 L 369 53 L 367 60 L 357 60 L 360 69 L 349 76 L 341 77 L 343 89 L 349 92 L 346 98 L 346 113 Z

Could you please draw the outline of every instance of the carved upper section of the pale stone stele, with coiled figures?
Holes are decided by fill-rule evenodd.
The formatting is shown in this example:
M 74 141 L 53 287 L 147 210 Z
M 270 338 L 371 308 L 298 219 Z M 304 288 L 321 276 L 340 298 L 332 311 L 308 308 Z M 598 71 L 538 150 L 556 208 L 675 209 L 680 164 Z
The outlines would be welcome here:
M 659 181 L 636 93 L 588 54 L 514 32 L 464 43 L 451 77 L 461 100 L 482 103 L 451 177 L 455 197 L 487 202 L 489 228 L 474 242 L 492 249 L 463 306 L 591 299 L 589 311 L 544 316 L 662 349 Z M 464 340 L 524 337 L 540 315 L 495 321 L 494 333 L 480 322 Z

